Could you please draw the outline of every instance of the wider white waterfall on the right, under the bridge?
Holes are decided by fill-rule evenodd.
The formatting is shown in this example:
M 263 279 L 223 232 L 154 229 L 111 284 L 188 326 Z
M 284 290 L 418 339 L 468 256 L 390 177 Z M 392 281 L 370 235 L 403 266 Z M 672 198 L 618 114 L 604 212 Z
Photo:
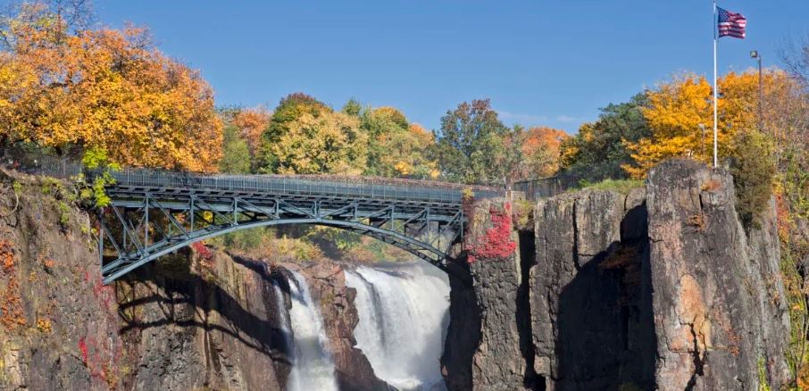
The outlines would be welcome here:
M 400 390 L 445 390 L 446 274 L 421 262 L 361 266 L 346 271 L 346 285 L 357 290 L 357 347 L 377 377 Z

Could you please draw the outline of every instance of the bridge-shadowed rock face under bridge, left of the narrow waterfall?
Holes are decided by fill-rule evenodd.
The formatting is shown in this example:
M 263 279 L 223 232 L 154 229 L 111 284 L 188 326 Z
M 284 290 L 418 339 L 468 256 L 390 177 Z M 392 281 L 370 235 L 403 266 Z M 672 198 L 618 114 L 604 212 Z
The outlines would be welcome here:
M 132 389 L 283 389 L 290 359 L 276 309 L 289 299 L 276 297 L 279 276 L 197 248 L 190 262 L 163 257 L 117 283 L 121 334 L 139 357 Z

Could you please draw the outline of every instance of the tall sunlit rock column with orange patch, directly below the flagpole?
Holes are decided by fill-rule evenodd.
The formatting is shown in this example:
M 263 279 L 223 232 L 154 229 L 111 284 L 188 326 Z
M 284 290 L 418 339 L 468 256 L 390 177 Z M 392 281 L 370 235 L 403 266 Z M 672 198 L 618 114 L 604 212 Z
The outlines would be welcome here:
M 724 171 L 671 162 L 649 173 L 647 206 L 660 389 L 772 389 L 789 377 L 789 323 L 772 208 L 739 224 Z

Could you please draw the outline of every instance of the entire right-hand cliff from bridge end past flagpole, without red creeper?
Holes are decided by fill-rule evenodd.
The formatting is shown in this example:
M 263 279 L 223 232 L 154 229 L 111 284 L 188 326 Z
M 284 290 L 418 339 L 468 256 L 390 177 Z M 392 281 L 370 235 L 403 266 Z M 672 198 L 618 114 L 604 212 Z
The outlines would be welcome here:
M 488 248 L 503 205 L 475 205 L 470 254 Z M 473 282 L 451 295 L 451 389 L 788 382 L 775 216 L 765 211 L 762 227 L 746 232 L 727 172 L 671 161 L 627 195 L 584 190 L 533 206 L 532 222 L 510 236 L 519 251 L 454 266 Z

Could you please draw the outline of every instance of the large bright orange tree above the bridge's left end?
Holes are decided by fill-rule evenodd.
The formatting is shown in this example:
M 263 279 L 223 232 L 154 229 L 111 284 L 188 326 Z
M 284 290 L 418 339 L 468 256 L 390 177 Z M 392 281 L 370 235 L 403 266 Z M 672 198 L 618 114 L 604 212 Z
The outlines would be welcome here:
M 74 30 L 54 4 L 22 4 L 4 17 L 0 143 L 216 170 L 222 125 L 199 72 L 160 53 L 145 29 Z

